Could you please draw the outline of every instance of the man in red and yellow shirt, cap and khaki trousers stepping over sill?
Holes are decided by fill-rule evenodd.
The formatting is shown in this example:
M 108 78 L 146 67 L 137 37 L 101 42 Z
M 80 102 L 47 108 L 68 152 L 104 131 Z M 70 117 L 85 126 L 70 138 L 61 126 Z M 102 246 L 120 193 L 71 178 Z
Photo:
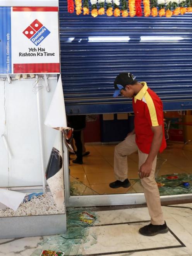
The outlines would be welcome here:
M 148 236 L 166 233 L 168 228 L 154 177 L 157 154 L 166 148 L 163 104 L 157 94 L 147 87 L 146 82 L 138 82 L 131 73 L 120 73 L 115 79 L 114 87 L 113 97 L 121 93 L 124 97 L 132 98 L 135 128 L 124 141 L 115 146 L 114 172 L 117 180 L 110 183 L 110 187 L 115 189 L 130 186 L 127 179 L 127 155 L 138 150 L 138 174 L 151 216 L 151 223 L 139 229 L 139 232 Z

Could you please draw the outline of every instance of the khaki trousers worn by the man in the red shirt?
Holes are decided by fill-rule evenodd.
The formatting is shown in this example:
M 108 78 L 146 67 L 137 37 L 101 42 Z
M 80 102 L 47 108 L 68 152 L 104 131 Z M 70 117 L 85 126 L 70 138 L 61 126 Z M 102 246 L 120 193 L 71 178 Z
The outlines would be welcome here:
M 117 180 L 127 179 L 127 170 L 129 172 L 129 162 L 127 166 L 127 155 L 130 155 L 138 150 L 139 168 L 146 161 L 147 154 L 142 153 L 135 143 L 135 134 L 127 136 L 124 141 L 115 146 L 114 152 L 114 172 Z M 165 223 L 163 212 L 161 210 L 161 201 L 159 197 L 159 189 L 155 181 L 154 173 L 156 168 L 157 157 L 153 161 L 152 171 L 149 177 L 141 179 L 141 184 L 144 189 L 151 223 L 153 225 L 163 225 Z M 139 169 L 138 169 L 139 170 Z

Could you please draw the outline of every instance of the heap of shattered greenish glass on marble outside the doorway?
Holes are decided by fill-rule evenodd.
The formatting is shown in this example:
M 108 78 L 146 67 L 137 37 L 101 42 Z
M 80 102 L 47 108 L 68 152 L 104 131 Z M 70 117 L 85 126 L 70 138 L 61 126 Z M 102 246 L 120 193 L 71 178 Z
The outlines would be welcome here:
M 92 223 L 82 222 L 81 218 L 94 220 Z M 43 237 L 43 241 L 39 243 L 44 250 L 61 251 L 67 255 L 81 255 L 81 249 L 86 242 L 90 246 L 96 244 L 96 234 L 90 233 L 89 227 L 97 222 L 95 212 L 84 208 L 69 208 L 67 211 L 67 232 L 66 234 Z M 88 235 L 90 234 L 89 238 Z M 91 238 L 90 238 L 91 237 Z M 31 256 L 39 256 L 42 249 L 36 249 Z

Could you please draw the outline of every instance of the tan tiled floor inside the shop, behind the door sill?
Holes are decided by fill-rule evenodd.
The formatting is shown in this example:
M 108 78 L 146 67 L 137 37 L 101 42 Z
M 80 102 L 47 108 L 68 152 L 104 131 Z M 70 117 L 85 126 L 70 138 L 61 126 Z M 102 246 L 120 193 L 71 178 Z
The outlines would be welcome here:
M 70 161 L 70 175 L 91 188 L 98 194 L 119 194 L 142 192 L 139 183 L 131 180 L 132 186 L 128 189 L 111 189 L 109 183 L 115 180 L 113 173 L 113 152 L 115 145 L 86 145 L 90 155 L 83 158 L 83 165 Z M 158 176 L 166 174 L 192 174 L 192 144 L 182 149 L 182 143 L 168 143 L 165 151 L 158 156 L 157 167 L 160 169 Z M 70 156 L 73 160 L 75 155 Z M 128 178 L 139 179 L 138 177 L 138 154 L 137 152 L 127 157 Z M 162 164 L 163 163 L 163 164 Z M 88 190 L 91 194 L 91 190 Z

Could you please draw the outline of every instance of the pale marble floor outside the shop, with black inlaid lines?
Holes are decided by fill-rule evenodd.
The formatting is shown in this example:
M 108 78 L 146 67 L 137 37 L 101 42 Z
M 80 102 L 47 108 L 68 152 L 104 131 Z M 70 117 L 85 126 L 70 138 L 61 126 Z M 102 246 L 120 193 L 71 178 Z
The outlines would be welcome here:
M 86 239 L 78 251 L 74 245 L 65 255 L 192 256 L 192 203 L 162 207 L 169 232 L 153 237 L 138 233 L 140 227 L 149 223 L 146 207 L 105 211 L 98 208 L 98 222 L 88 230 L 88 238 L 94 234 L 96 242 L 90 244 L 91 239 Z M 1 239 L 0 256 L 38 256 L 41 250 L 51 249 L 50 245 L 39 245 L 47 237 Z

